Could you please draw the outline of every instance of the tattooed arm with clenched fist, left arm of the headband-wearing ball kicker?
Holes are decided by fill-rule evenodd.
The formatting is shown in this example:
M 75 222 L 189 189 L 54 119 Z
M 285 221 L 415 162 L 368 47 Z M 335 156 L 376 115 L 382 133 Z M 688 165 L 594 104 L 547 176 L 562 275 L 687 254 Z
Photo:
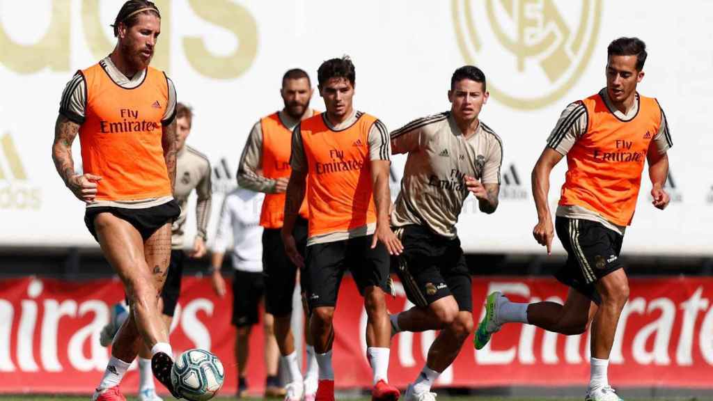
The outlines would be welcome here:
M 64 185 L 72 191 L 74 196 L 83 202 L 92 203 L 96 197 L 97 182 L 101 180 L 101 177 L 89 173 L 79 176 L 74 173 L 72 143 L 77 133 L 79 133 L 78 123 L 70 121 L 61 114 L 57 116 L 54 126 L 52 160 Z

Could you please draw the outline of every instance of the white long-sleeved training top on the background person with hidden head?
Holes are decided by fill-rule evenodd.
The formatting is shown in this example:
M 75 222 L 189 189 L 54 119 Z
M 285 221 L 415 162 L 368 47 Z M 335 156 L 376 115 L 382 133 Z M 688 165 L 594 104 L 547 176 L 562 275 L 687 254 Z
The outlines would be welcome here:
M 260 210 L 264 193 L 237 188 L 228 193 L 220 208 L 213 252 L 225 253 L 232 233 L 232 268 L 262 272 Z

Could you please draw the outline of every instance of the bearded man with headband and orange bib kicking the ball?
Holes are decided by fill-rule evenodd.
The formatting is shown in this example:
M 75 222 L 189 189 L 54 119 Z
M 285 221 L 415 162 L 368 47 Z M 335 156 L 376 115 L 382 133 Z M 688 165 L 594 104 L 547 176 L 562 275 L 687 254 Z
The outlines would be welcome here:
M 153 374 L 170 392 L 173 351 L 158 295 L 171 250 L 176 169 L 175 89 L 149 67 L 160 34 L 151 1 L 130 0 L 113 24 L 116 47 L 67 84 L 52 157 L 74 196 L 86 203 L 89 232 L 121 279 L 130 316 L 114 338 L 111 359 L 92 400 L 125 400 L 118 383 L 144 345 Z M 83 174 L 71 146 L 79 134 Z

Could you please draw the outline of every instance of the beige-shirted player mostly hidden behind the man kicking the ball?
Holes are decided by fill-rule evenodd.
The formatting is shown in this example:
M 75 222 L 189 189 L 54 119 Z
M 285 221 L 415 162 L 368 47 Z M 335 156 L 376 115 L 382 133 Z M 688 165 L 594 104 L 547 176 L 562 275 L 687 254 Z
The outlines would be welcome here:
M 175 220 L 171 228 L 171 258 L 168 264 L 168 275 L 166 276 L 163 290 L 161 290 L 161 301 L 163 306 L 163 321 L 166 329 L 170 329 L 176 305 L 178 305 L 178 295 L 180 295 L 180 282 L 183 275 L 183 262 L 185 253 L 183 252 L 183 231 L 185 220 L 188 217 L 188 196 L 195 190 L 198 200 L 195 204 L 195 215 L 197 234 L 193 240 L 193 248 L 190 251 L 191 258 L 202 258 L 205 255 L 205 238 L 210 216 L 211 205 L 211 184 L 210 184 L 210 161 L 199 151 L 185 144 L 186 138 L 190 135 L 193 126 L 193 111 L 183 103 L 176 106 L 176 143 L 178 148 L 176 155 L 176 176 L 173 196 L 178 201 L 181 213 L 178 220 Z M 115 305 L 113 311 L 123 310 L 121 305 Z M 128 312 L 128 311 L 127 311 Z M 101 330 L 100 342 L 105 347 L 111 344 L 116 331 L 119 329 L 128 313 L 122 313 L 116 318 L 112 318 Z M 151 374 L 151 353 L 145 347 L 139 350 L 139 391 L 140 401 L 160 401 L 156 395 L 153 385 L 153 375 Z

